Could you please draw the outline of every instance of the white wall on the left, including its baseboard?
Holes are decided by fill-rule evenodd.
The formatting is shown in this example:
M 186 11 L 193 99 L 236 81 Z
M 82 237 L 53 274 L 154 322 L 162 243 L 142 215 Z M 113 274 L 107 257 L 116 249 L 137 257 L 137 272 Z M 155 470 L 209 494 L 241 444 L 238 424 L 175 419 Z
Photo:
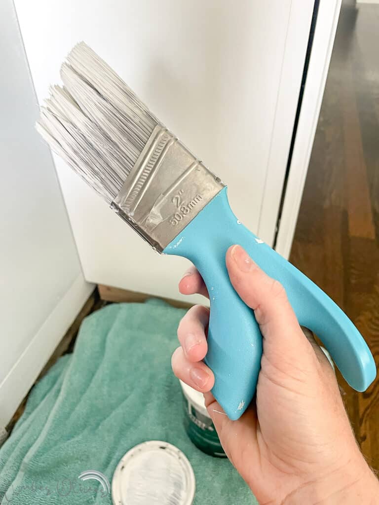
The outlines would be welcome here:
M 84 282 L 12 0 L 0 4 L 0 426 L 79 312 Z

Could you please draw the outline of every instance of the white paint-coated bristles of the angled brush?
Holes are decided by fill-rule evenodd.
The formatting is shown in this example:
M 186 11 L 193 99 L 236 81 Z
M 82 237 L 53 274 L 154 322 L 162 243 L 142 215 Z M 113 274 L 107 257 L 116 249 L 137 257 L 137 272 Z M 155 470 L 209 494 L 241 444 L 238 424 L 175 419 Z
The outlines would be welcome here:
M 116 197 L 158 120 L 84 42 L 61 67 L 37 130 L 108 202 Z

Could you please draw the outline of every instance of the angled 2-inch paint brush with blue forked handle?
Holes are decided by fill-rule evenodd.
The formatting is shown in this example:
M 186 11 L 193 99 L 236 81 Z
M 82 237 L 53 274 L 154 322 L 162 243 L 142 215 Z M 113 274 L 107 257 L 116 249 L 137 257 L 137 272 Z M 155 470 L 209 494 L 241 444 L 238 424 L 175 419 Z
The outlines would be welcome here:
M 61 68 L 37 129 L 51 148 L 158 252 L 191 260 L 210 294 L 206 364 L 212 392 L 230 419 L 255 393 L 262 336 L 230 284 L 225 252 L 241 244 L 286 288 L 299 323 L 314 331 L 347 382 L 374 380 L 371 353 L 343 311 L 311 280 L 245 228 L 226 186 L 157 119 L 84 42 Z

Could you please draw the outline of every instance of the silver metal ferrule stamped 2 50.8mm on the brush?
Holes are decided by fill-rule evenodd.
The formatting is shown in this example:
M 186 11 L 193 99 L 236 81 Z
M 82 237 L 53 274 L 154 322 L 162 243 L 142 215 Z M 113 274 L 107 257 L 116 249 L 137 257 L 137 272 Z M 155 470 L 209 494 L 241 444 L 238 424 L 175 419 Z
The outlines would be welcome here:
M 224 187 L 158 124 L 111 208 L 158 252 Z

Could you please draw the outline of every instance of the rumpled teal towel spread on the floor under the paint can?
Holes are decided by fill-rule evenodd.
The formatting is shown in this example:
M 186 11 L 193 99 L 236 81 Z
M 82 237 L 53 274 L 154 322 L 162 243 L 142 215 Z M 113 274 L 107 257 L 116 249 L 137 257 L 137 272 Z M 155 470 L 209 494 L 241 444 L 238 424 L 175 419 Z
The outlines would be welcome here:
M 179 447 L 196 477 L 198 505 L 257 503 L 228 460 L 201 452 L 183 428 L 180 385 L 170 358 L 184 311 L 160 300 L 113 304 L 88 316 L 73 354 L 32 389 L 24 414 L 0 449 L 2 505 L 112 503 L 95 480 L 112 480 L 134 445 Z

